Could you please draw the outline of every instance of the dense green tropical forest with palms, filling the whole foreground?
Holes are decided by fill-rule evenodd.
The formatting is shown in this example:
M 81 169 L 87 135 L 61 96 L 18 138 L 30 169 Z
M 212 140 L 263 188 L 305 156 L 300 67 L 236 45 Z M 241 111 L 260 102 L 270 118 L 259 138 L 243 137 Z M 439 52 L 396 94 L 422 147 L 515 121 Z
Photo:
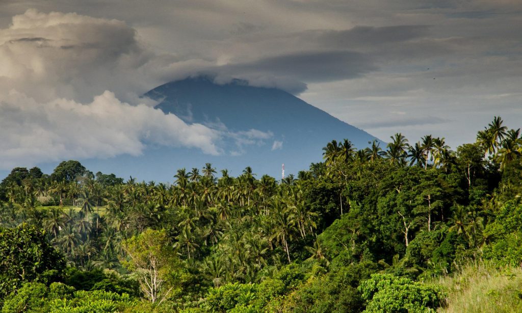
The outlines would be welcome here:
M 476 138 L 332 140 L 282 180 L 16 167 L 0 184 L 0 307 L 522 311 L 522 136 L 495 116 Z

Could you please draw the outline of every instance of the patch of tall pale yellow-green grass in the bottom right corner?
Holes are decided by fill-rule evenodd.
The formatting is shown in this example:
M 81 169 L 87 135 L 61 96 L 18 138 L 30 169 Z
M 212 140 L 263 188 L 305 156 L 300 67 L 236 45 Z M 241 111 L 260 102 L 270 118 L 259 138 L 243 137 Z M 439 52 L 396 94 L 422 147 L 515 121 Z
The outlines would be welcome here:
M 434 279 L 447 291 L 438 312 L 522 312 L 522 269 L 477 261 L 452 276 Z

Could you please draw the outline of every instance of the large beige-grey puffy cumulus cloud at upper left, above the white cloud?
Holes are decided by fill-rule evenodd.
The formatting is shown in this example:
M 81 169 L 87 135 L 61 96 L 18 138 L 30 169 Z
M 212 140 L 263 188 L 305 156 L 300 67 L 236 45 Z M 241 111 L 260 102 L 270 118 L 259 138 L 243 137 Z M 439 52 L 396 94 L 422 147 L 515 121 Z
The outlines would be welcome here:
M 134 102 L 155 81 L 155 57 L 123 21 L 29 9 L 0 29 L 0 91 L 85 103 L 111 90 Z

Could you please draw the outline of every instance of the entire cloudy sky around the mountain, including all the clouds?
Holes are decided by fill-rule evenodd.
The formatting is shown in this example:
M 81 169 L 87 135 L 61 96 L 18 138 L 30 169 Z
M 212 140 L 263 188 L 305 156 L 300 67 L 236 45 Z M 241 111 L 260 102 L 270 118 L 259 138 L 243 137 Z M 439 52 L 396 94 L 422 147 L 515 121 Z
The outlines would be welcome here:
M 291 92 L 387 141 L 456 148 L 522 127 L 519 0 L 0 0 L 0 170 L 223 153 L 224 136 L 140 98 L 188 76 Z

